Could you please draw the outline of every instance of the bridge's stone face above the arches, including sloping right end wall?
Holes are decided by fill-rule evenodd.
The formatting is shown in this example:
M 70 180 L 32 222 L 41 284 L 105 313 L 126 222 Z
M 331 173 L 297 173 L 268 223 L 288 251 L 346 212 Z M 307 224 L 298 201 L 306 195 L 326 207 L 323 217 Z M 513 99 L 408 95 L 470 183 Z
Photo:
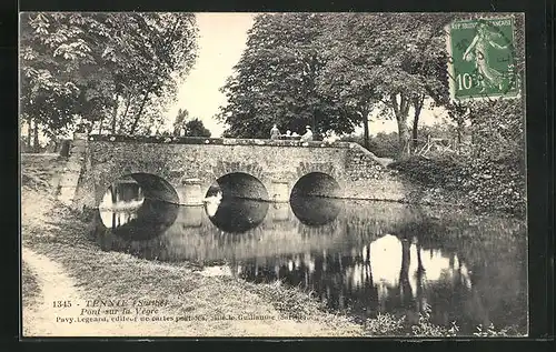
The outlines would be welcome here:
M 256 177 L 270 195 L 276 182 L 290 192 L 310 172 L 331 175 L 341 198 L 404 201 L 406 193 L 396 172 L 356 143 L 90 135 L 85 145 L 79 209 L 97 207 L 112 181 L 137 172 L 158 175 L 175 188 L 199 179 L 203 194 L 232 172 Z

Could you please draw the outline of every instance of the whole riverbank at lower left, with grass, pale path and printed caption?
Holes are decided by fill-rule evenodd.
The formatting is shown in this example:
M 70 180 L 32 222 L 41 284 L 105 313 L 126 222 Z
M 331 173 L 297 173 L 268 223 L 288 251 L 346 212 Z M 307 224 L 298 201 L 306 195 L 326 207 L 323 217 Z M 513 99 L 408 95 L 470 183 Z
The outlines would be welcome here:
M 46 159 L 44 159 L 46 158 Z M 23 326 L 26 335 L 123 336 L 368 336 L 453 335 L 426 316 L 407 326 L 401 318 L 380 315 L 365 323 L 327 311 L 325 305 L 280 282 L 248 283 L 225 271 L 190 262 L 169 263 L 101 251 L 87 239 L 81 214 L 54 200 L 52 180 L 63 159 L 22 161 Z M 48 159 L 48 162 L 46 162 Z M 27 181 L 26 181 L 27 180 Z M 34 180 L 29 182 L 28 180 Z M 137 302 L 157 300 L 156 321 L 140 321 Z M 61 301 L 62 303 L 54 303 Z M 120 301 L 138 321 L 93 321 L 76 304 Z M 72 302 L 72 306 L 63 306 Z M 58 306 L 58 305 L 62 306 Z M 93 304 L 93 303 L 91 303 Z M 54 316 L 81 319 L 79 323 Z M 53 333 L 56 332 L 56 333 Z

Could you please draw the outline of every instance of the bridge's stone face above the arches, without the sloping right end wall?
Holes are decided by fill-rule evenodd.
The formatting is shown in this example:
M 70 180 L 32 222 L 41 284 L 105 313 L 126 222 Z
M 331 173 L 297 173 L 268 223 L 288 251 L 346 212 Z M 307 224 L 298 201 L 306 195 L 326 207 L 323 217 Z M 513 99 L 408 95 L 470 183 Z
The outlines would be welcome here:
M 183 180 L 198 179 L 202 193 L 218 178 L 245 172 L 260 180 L 270 193 L 272 182 L 285 182 L 289 190 L 301 177 L 299 172 L 330 172 L 344 187 L 347 145 L 325 145 L 261 140 L 161 139 L 90 137 L 83 188 L 93 184 L 95 200 L 87 194 L 89 205 L 99 203 L 108 185 L 130 173 L 151 173 L 175 188 Z

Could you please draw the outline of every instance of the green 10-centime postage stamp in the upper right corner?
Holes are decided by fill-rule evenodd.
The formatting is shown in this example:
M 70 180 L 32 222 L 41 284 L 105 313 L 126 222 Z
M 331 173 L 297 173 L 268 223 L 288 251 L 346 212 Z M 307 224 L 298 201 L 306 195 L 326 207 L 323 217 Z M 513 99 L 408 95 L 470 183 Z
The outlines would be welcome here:
M 453 100 L 519 95 L 514 18 L 454 21 L 447 47 Z

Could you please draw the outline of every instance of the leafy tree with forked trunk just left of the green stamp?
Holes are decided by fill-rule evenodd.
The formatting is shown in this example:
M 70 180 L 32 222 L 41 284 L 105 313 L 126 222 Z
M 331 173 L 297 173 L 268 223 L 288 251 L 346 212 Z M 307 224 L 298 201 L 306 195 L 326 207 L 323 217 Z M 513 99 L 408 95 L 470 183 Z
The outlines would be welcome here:
M 425 97 L 440 100 L 447 95 L 443 29 L 449 18 L 433 13 L 349 13 L 336 16 L 329 24 L 325 70 L 330 74 L 325 76 L 328 80 L 322 81 L 321 89 L 364 109 L 383 103 L 389 110 L 383 115 L 391 114 L 398 122 L 398 158 L 409 150 L 410 105 L 417 108 L 417 124 Z

